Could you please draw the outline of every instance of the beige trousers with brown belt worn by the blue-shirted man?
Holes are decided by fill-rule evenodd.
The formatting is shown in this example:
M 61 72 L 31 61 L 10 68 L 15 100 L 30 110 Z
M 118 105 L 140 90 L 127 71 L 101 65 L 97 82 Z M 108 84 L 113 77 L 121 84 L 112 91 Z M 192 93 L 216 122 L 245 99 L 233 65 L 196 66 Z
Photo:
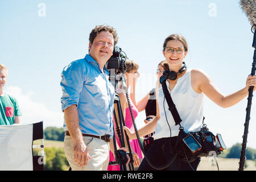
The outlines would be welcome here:
M 74 161 L 73 140 L 71 136 L 65 135 L 64 151 L 72 171 L 106 171 L 109 164 L 109 143 L 93 137 L 83 138 L 92 159 L 88 160 L 85 167 L 80 167 Z

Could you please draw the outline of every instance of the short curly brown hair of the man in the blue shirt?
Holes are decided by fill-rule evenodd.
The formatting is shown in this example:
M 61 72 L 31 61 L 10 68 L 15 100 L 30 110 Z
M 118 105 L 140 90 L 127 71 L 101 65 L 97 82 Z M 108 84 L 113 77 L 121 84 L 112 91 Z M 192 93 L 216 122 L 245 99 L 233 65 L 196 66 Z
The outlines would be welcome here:
M 117 31 L 115 30 L 115 28 L 108 26 L 108 25 L 97 25 L 95 28 L 93 28 L 93 30 L 90 32 L 90 36 L 89 36 L 89 42 L 91 44 L 93 44 L 93 40 L 96 38 L 96 36 L 102 32 L 102 31 L 107 31 L 110 32 L 113 35 L 114 38 L 114 46 L 115 44 L 117 44 L 118 42 L 118 36 L 117 36 Z

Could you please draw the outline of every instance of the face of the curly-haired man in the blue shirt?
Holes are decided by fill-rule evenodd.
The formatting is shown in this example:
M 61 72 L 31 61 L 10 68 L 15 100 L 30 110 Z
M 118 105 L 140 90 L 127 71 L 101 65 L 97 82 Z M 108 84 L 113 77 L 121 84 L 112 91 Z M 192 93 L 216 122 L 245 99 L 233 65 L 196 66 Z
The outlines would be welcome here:
M 89 43 L 89 55 L 98 63 L 106 63 L 113 54 L 114 38 L 110 32 L 102 31 Z

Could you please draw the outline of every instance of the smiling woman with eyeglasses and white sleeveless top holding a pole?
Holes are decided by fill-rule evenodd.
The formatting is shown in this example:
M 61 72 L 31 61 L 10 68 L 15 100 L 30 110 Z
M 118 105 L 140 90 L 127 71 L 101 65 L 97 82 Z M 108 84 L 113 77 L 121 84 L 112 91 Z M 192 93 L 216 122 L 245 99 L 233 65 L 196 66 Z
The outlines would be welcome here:
M 203 123 L 203 97 L 207 96 L 215 104 L 221 107 L 230 107 L 248 95 L 250 86 L 256 89 L 256 76 L 248 76 L 245 87 L 235 93 L 225 96 L 213 84 L 209 76 L 200 69 L 186 69 L 184 58 L 188 53 L 188 44 L 181 35 L 172 34 L 164 40 L 163 55 L 169 65 L 169 72 L 176 73 L 175 77 L 166 79 L 167 89 L 171 94 L 172 100 L 180 115 L 181 126 L 185 133 L 200 131 Z M 159 83 L 158 83 L 159 84 Z M 165 109 L 164 109 L 165 108 Z M 154 166 L 166 165 L 174 155 L 172 151 L 179 134 L 179 125 L 175 121 L 171 112 L 168 110 L 167 101 L 164 98 L 162 85 L 156 85 L 156 117 L 147 125 L 138 130 L 139 136 L 144 136 L 155 131 L 154 142 L 146 153 L 147 159 Z M 168 118 L 168 123 L 167 119 Z M 170 125 L 170 128 L 169 126 Z M 136 138 L 134 132 L 124 128 L 130 139 Z M 193 162 L 185 163 L 176 158 L 173 163 L 163 170 L 192 170 L 197 169 L 200 158 Z M 155 170 L 145 158 L 142 160 L 139 170 Z

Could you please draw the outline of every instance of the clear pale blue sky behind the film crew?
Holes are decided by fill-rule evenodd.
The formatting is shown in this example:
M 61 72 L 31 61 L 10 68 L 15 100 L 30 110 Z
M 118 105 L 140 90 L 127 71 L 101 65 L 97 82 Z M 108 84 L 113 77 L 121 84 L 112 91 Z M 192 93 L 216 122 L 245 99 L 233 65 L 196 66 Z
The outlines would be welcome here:
M 46 16 L 40 16 L 40 3 Z M 207 72 L 222 93 L 243 88 L 251 72 L 253 34 L 239 1 L 0 1 L 0 62 L 9 69 L 5 89 L 18 99 L 23 123 L 63 125 L 60 73 L 88 53 L 89 33 L 98 24 L 115 27 L 118 46 L 138 62 L 137 100 L 154 86 L 163 40 L 173 33 L 187 39 L 188 67 Z M 246 105 L 245 98 L 222 109 L 205 97 L 205 122 L 228 147 L 242 142 Z M 143 119 L 139 114 L 139 126 Z M 247 146 L 254 148 L 255 122 L 253 105 Z

